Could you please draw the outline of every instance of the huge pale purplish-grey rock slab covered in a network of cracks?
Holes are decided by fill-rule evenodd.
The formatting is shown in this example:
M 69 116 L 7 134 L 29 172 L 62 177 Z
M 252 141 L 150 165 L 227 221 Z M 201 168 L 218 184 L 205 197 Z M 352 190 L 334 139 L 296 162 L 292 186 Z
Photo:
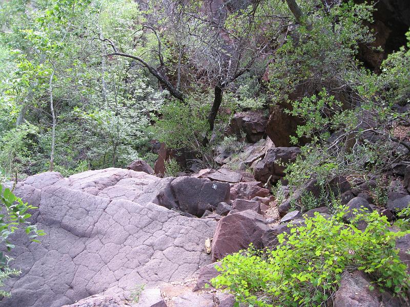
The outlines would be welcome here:
M 211 262 L 204 242 L 216 222 L 149 202 L 148 194 L 178 199 L 165 189 L 171 181 L 108 168 L 69 178 L 46 172 L 19 183 L 16 194 L 39 207 L 31 222 L 46 235 L 38 244 L 14 234 L 16 248 L 9 255 L 22 274 L 8 280 L 5 290 L 12 297 L 0 306 L 60 307 L 195 275 Z M 144 203 L 137 202 L 141 196 Z

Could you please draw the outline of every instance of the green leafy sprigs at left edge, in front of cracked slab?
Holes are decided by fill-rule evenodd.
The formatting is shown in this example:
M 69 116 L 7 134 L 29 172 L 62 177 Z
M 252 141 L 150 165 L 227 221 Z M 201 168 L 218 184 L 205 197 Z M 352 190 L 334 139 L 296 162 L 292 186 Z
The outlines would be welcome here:
M 4 189 L 0 184 L 0 235 L 2 243 L 5 244 L 8 251 L 14 248 L 13 243 L 9 241 L 8 237 L 19 228 L 23 228 L 33 242 L 39 242 L 35 238 L 45 234 L 43 230 L 38 230 L 35 225 L 31 225 L 27 221 L 31 216 L 27 210 L 36 208 L 24 203 L 10 189 Z M 18 270 L 9 268 L 10 260 L 9 256 L 4 252 L 0 252 L 0 287 L 4 286 L 4 279 L 20 273 Z M 9 295 L 10 293 L 0 290 L 0 296 Z

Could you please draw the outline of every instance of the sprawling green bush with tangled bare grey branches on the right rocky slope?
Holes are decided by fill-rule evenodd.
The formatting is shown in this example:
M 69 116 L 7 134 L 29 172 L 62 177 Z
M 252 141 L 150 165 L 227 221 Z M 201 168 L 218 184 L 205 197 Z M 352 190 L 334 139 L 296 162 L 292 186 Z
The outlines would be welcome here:
M 285 169 L 292 186 L 300 186 L 315 173 L 318 184 L 325 187 L 338 176 L 380 172 L 397 158 L 395 148 L 400 141 L 388 130 L 393 111 L 385 103 L 367 101 L 361 107 L 343 109 L 323 89 L 292 106 L 288 112 L 304 122 L 292 142 L 302 137 L 311 140 Z

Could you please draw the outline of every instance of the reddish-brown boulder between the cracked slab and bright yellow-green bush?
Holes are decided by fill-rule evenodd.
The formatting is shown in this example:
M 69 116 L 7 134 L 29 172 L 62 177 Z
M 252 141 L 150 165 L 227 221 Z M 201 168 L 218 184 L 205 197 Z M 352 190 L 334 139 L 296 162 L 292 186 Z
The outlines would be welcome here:
M 247 249 L 249 244 L 262 248 L 262 235 L 269 229 L 268 223 L 253 210 L 229 214 L 218 222 L 212 242 L 212 259 Z

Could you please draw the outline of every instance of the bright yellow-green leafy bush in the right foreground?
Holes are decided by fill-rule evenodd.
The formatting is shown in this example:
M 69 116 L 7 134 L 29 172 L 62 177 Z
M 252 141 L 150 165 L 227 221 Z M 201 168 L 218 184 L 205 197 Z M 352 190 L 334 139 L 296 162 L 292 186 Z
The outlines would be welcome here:
M 265 253 L 251 246 L 228 255 L 213 286 L 226 287 L 249 306 L 320 306 L 334 295 L 343 271 L 362 270 L 377 286 L 404 295 L 410 277 L 395 242 L 406 232 L 389 230 L 387 218 L 377 212 L 358 212 L 353 222 L 367 223 L 362 232 L 342 222 L 345 213 L 340 208 L 329 219 L 316 213 L 304 225 L 290 225 L 290 234 L 280 234 L 280 245 Z

